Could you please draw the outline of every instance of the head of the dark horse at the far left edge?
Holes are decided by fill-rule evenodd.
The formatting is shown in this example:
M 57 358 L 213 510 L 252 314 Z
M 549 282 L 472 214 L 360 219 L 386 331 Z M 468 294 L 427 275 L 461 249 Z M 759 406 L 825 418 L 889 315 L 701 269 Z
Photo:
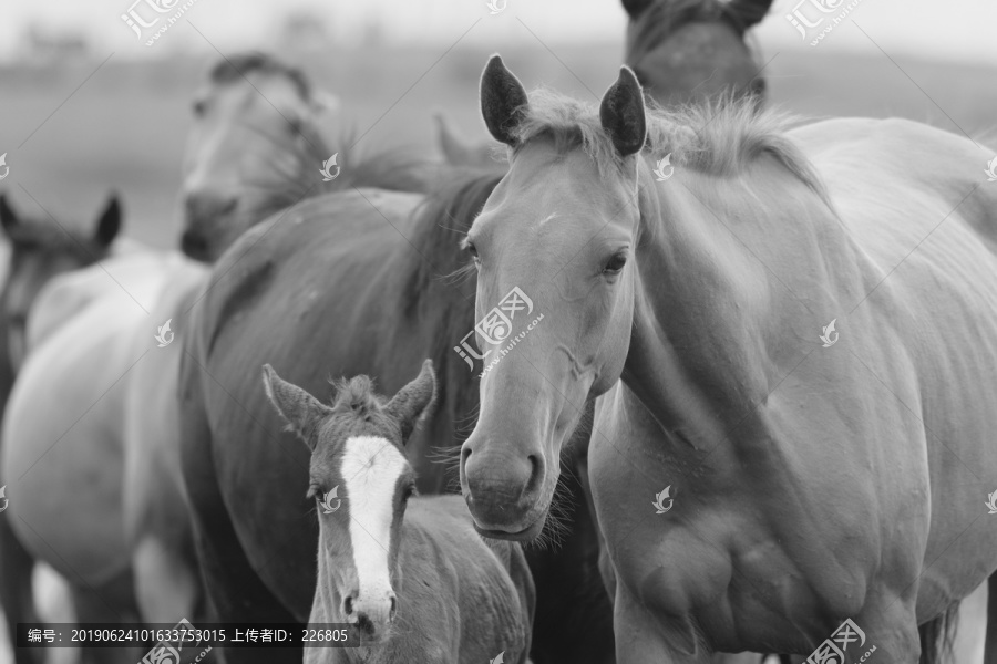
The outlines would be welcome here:
M 10 240 L 10 271 L 0 291 L 0 325 L 7 328 L 7 352 L 17 370 L 27 351 L 28 311 L 41 288 L 56 274 L 86 267 L 107 256 L 121 228 L 121 205 L 112 195 L 93 234 L 66 230 L 45 217 L 22 218 L 0 196 L 0 228 Z

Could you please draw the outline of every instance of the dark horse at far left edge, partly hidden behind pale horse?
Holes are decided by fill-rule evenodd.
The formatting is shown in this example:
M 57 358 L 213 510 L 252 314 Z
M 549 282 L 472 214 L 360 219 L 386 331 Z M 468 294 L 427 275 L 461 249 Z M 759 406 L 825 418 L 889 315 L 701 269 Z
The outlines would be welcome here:
M 10 242 L 8 270 L 0 291 L 0 404 L 6 404 L 25 353 L 28 311 L 42 286 L 54 276 L 107 255 L 121 228 L 121 204 L 112 195 L 88 235 L 48 217 L 22 218 L 0 195 L 0 229 Z M 13 498 L 14 502 L 18 498 Z M 38 620 L 31 590 L 33 560 L 11 530 L 11 515 L 0 519 L 0 604 L 9 634 L 19 622 Z M 18 664 L 34 661 L 16 649 Z

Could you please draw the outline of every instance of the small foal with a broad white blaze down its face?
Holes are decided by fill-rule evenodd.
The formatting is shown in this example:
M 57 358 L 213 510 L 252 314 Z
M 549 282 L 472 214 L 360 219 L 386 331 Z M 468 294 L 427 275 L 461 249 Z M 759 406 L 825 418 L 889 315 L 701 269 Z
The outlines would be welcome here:
M 269 364 L 264 386 L 311 449 L 319 556 L 309 623 L 349 623 L 362 644 L 306 649 L 305 662 L 460 664 L 504 653 L 525 663 L 535 593 L 520 544 L 482 540 L 460 496 L 410 500 L 404 444 L 431 414 L 432 362 L 390 402 L 356 376 L 326 405 Z

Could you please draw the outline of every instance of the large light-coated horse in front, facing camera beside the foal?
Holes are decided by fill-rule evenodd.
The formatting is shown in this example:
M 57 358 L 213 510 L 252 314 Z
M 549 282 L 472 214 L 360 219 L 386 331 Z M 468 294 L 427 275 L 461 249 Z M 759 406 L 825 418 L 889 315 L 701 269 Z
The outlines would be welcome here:
M 937 662 L 997 569 L 980 149 L 903 120 L 790 131 L 750 102 L 648 108 L 628 68 L 598 111 L 527 96 L 498 56 L 481 93 L 512 158 L 466 237 L 476 310 L 513 287 L 531 307 L 503 328 L 517 343 L 461 452 L 479 531 L 537 532 L 595 396 L 620 664 L 824 661 L 860 636 L 866 655 Z M 661 154 L 674 172 L 656 175 Z

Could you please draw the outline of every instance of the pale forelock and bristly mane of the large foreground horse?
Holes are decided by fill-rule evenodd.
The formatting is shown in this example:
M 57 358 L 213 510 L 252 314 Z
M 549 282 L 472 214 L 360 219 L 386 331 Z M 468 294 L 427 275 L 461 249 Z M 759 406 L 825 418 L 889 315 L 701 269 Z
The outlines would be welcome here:
M 717 177 L 736 176 L 768 154 L 806 185 L 825 204 L 824 185 L 799 147 L 785 136 L 792 116 L 759 111 L 748 97 L 662 108 L 647 102 L 646 155 L 671 154 L 671 165 Z M 559 152 L 582 147 L 608 175 L 620 165 L 609 135 L 603 131 L 598 108 L 548 90 L 530 94 L 525 117 L 513 131 L 520 145 L 549 137 Z

